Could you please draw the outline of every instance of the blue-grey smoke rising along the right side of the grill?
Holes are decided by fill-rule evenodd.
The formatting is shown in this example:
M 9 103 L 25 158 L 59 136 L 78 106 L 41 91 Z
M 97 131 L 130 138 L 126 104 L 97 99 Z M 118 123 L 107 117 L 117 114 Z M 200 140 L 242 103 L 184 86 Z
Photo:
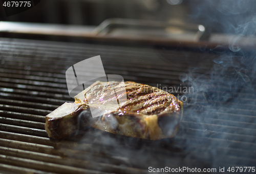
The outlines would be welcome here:
M 201 3 L 201 4 L 200 4 Z M 200 1 L 190 15 L 203 21 L 208 32 L 228 33 L 225 51 L 211 49 L 220 55 L 205 74 L 190 68 L 180 80 L 194 87 L 194 93 L 185 93 L 186 120 L 197 123 L 195 135 L 206 141 L 201 150 L 190 155 L 208 154 L 212 167 L 252 165 L 250 153 L 255 143 L 255 68 L 256 51 L 246 47 L 256 34 L 256 8 L 253 1 Z M 209 23 L 213 24 L 209 24 Z M 220 27 L 220 28 L 218 28 Z M 245 41 L 249 43 L 245 43 Z M 239 115 L 240 114 L 240 115 Z M 201 124 L 200 124 L 201 123 Z M 190 126 L 191 128 L 191 126 Z M 182 129 L 186 129 L 183 125 Z M 224 140 L 224 141 L 223 141 Z M 187 140 L 189 145 L 193 142 Z M 240 152 L 239 152 L 240 151 Z M 237 157 L 232 158 L 235 156 Z M 246 159 L 245 161 L 241 159 Z

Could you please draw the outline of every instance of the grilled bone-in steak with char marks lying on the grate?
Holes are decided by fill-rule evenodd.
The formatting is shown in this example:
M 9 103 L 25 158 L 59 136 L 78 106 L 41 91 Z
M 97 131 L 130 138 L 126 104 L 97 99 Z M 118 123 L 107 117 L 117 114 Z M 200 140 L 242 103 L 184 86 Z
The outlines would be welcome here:
M 181 101 L 156 87 L 135 82 L 124 86 L 121 91 L 119 82 L 97 81 L 77 94 L 74 103 L 65 103 L 46 116 L 49 137 L 61 139 L 83 126 L 151 140 L 176 135 L 183 114 Z M 127 100 L 114 105 L 125 95 Z M 99 102 L 92 103 L 91 98 Z M 99 106 L 104 106 L 104 114 L 93 118 L 91 110 Z

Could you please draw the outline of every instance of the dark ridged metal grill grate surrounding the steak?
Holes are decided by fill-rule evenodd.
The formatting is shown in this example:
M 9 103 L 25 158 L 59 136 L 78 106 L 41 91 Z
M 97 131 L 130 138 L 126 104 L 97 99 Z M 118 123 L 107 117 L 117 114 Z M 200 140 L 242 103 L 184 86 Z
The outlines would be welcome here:
M 253 166 L 256 163 L 255 92 L 240 91 L 241 104 L 218 110 L 187 107 L 173 139 L 139 140 L 85 129 L 50 140 L 45 115 L 73 102 L 65 72 L 100 55 L 107 74 L 152 86 L 179 86 L 179 74 L 201 66 L 209 73 L 218 54 L 92 44 L 0 39 L 0 169 L 17 173 L 147 173 L 148 167 Z M 185 84 L 182 84 L 185 85 Z M 225 87 L 223 87 L 225 89 Z M 177 91 L 174 93 L 182 94 Z M 228 106 L 234 106 L 232 108 Z M 195 113 L 195 112 L 193 112 Z M 76 140 L 76 141 L 73 141 Z M 77 141 L 79 140 L 79 141 Z

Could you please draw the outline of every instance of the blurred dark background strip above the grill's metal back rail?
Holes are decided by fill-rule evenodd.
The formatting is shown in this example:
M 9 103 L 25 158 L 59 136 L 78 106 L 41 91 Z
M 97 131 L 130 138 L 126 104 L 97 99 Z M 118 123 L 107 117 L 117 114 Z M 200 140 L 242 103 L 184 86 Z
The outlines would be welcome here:
M 230 24 L 254 14 L 255 4 L 250 0 L 41 0 L 32 9 L 10 17 L 0 6 L 0 21 L 98 26 L 105 19 L 118 17 L 197 23 L 207 32 L 234 33 Z

